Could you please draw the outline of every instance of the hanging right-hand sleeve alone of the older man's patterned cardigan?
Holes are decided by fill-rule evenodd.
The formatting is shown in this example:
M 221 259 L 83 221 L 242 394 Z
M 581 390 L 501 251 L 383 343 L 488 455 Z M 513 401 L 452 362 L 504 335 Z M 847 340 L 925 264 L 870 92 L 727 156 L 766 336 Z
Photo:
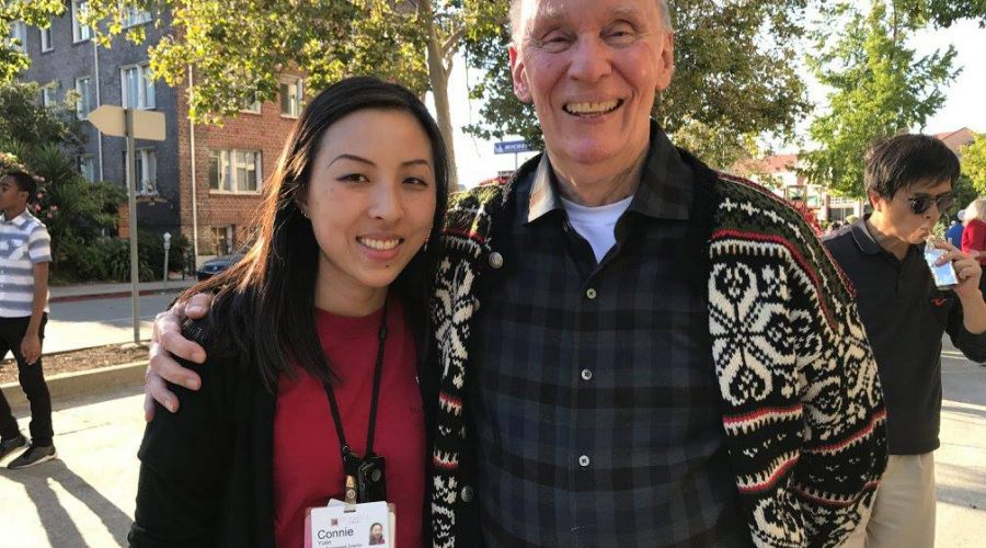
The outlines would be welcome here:
M 804 437 L 789 480 L 806 546 L 841 546 L 873 502 L 886 467 L 886 411 L 876 361 L 848 281 L 810 242 L 816 284 L 792 287 Z M 801 269 L 799 261 L 791 267 Z

